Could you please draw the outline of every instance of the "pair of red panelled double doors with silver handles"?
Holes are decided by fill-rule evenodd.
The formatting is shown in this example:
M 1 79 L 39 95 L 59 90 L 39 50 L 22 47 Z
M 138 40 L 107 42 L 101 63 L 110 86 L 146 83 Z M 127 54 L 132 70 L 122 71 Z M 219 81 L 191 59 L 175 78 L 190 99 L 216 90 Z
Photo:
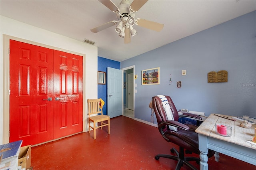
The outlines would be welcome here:
M 10 40 L 10 142 L 82 132 L 83 58 Z

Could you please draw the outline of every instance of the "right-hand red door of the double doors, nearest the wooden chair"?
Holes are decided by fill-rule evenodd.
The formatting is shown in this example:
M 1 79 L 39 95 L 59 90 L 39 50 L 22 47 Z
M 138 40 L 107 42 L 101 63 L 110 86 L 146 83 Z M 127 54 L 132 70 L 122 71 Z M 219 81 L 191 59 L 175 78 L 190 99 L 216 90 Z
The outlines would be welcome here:
M 62 51 L 54 51 L 54 138 L 83 128 L 83 59 Z M 59 98 L 59 99 L 56 99 Z

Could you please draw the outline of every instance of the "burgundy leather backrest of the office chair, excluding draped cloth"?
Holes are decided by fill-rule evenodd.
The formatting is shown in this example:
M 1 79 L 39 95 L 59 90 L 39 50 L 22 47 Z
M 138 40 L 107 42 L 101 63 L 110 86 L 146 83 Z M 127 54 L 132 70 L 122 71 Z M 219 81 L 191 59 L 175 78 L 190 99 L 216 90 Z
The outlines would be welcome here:
M 172 115 L 174 117 L 174 121 L 178 121 L 179 114 L 178 114 L 178 111 L 177 111 L 171 97 L 170 96 L 165 96 L 165 97 L 169 102 L 170 109 L 171 109 Z M 163 105 L 162 105 L 162 100 L 159 97 L 154 96 L 154 97 L 152 97 L 152 105 L 153 105 L 153 108 L 154 108 L 154 112 L 156 114 L 156 120 L 157 120 L 158 125 L 162 122 L 166 122 L 167 115 L 164 111 L 164 108 L 163 108 Z

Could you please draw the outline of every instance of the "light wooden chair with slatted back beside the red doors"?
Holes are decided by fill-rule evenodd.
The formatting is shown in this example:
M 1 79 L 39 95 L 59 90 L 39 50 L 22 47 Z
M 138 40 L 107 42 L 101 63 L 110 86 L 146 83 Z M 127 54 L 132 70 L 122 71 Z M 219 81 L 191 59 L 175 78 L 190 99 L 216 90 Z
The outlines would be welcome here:
M 108 134 L 110 134 L 110 116 L 103 115 L 100 103 L 100 99 L 88 99 L 89 134 L 90 128 L 92 128 L 94 131 L 94 140 L 96 139 L 97 128 L 102 129 L 102 127 L 108 126 Z M 108 121 L 108 123 L 103 121 Z M 91 122 L 93 122 L 93 127 L 90 125 Z M 98 122 L 101 123 L 100 126 L 96 126 L 98 125 Z

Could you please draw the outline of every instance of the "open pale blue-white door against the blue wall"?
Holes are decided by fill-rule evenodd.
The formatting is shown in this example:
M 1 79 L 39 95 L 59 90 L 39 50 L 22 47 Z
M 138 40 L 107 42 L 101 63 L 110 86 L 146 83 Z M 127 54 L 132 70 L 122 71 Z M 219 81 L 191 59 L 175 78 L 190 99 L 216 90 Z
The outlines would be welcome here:
M 107 112 L 110 118 L 122 115 L 122 70 L 107 68 Z

